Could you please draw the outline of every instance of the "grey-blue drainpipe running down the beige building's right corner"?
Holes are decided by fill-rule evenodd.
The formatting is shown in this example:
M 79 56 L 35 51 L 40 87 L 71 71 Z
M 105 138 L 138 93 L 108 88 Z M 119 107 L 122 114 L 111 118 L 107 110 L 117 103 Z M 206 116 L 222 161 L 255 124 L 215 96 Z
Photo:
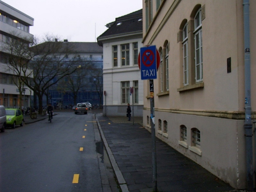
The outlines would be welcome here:
M 248 191 L 253 191 L 252 120 L 251 120 L 251 70 L 250 70 L 250 3 L 244 0 L 244 83 L 245 83 L 245 144 Z

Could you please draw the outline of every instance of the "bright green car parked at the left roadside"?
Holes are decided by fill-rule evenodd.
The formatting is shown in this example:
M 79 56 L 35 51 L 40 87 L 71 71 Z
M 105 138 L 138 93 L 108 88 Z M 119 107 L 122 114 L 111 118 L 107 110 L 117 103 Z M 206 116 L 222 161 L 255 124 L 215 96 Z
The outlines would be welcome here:
M 7 108 L 6 111 L 6 126 L 15 128 L 16 125 L 23 126 L 23 115 L 20 109 Z

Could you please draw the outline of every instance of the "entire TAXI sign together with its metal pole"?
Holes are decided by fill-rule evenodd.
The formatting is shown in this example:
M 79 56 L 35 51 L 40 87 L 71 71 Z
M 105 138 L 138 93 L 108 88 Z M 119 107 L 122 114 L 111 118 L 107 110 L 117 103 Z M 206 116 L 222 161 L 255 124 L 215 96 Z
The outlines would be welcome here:
M 141 54 L 141 56 L 140 56 Z M 140 48 L 138 56 L 138 65 L 142 80 L 149 79 L 150 87 L 150 122 L 151 122 L 151 140 L 152 140 L 152 169 L 154 192 L 157 192 L 156 176 L 156 128 L 155 128 L 155 111 L 154 111 L 154 79 L 157 78 L 156 72 L 160 66 L 160 54 L 156 46 L 145 46 Z

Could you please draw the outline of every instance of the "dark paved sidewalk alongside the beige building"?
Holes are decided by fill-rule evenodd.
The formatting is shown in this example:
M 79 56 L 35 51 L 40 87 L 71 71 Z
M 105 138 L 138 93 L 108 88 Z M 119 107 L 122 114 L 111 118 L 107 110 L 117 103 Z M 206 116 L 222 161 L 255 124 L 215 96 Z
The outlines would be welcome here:
M 96 114 L 110 162 L 122 192 L 152 192 L 151 133 L 126 117 Z M 235 190 L 192 160 L 156 138 L 159 192 L 246 192 Z

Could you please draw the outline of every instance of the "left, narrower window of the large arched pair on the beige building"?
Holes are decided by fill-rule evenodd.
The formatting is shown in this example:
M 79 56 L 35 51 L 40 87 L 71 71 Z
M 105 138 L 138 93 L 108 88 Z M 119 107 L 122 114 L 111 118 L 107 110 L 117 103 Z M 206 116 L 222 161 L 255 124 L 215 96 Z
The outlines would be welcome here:
M 183 28 L 183 85 L 188 85 L 188 29 L 187 24 Z

